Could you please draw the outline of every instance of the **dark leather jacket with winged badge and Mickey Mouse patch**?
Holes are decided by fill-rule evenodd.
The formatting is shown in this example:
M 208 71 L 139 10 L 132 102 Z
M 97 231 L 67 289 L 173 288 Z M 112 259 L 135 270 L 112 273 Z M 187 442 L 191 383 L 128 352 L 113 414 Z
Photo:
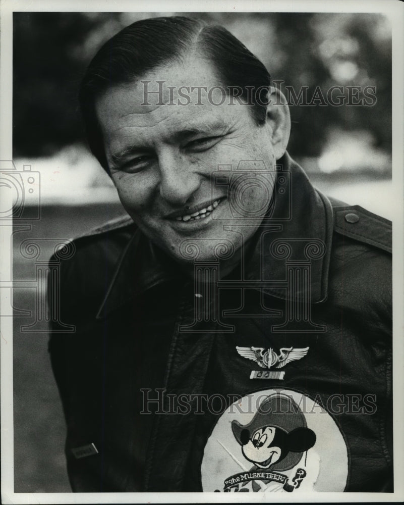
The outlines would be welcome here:
M 392 490 L 391 224 L 281 163 L 226 278 L 195 284 L 130 218 L 51 259 L 74 491 Z M 235 409 L 258 395 L 293 412 Z

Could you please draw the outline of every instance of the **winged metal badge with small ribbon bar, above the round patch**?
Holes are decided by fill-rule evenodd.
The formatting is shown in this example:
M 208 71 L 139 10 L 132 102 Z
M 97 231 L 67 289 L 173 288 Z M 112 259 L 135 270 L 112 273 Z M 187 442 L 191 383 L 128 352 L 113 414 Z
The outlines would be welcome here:
M 279 354 L 269 348 L 265 350 L 263 347 L 239 347 L 236 346 L 237 352 L 243 358 L 255 361 L 265 371 L 251 371 L 250 379 L 282 379 L 285 373 L 270 371 L 272 368 L 283 368 L 291 361 L 301 360 L 307 355 L 309 347 L 282 347 L 279 349 Z

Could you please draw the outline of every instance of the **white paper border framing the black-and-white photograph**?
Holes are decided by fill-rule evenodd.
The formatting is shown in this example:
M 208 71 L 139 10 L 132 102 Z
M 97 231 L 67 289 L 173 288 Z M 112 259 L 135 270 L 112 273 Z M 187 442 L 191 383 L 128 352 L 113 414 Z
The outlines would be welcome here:
M 13 12 L 372 12 L 384 13 L 392 25 L 392 194 L 396 203 L 393 220 L 393 402 L 394 402 L 394 492 L 393 493 L 320 493 L 300 494 L 301 502 L 362 502 L 402 501 L 404 499 L 404 4 L 395 0 L 272 0 L 249 2 L 233 0 L 189 0 L 188 2 L 155 0 L 2 0 L 1 4 L 1 62 L 0 62 L 0 109 L 1 153 L 0 160 L 12 160 L 12 16 Z M 0 188 L 1 190 L 1 188 Z M 2 195 L 8 197 L 7 193 Z M 11 278 L 10 244 L 11 229 L 0 226 L 0 274 Z M 10 304 L 10 294 L 3 293 L 1 307 Z M 3 503 L 186 503 L 228 502 L 229 494 L 221 493 L 14 493 L 13 466 L 13 327 L 12 318 L 2 317 L 1 326 L 1 428 L 2 428 L 2 502 Z M 296 502 L 296 495 L 277 495 L 277 501 Z M 260 496 L 232 495 L 234 502 L 260 502 Z

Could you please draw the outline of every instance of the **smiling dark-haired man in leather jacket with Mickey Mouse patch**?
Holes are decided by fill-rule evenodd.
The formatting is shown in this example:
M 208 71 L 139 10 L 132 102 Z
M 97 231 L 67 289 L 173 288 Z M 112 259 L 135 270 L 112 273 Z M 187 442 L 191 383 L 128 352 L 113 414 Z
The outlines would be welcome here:
M 134 23 L 80 102 L 130 217 L 50 289 L 73 490 L 391 491 L 390 223 L 313 188 L 223 28 Z

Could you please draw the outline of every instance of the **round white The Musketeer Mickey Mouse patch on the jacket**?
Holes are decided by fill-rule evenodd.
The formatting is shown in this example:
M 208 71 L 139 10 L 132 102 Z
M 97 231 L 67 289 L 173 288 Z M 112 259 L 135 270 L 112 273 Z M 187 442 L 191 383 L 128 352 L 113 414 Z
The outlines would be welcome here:
M 267 389 L 244 396 L 221 415 L 205 446 L 201 477 L 203 491 L 343 491 L 347 445 L 332 417 L 310 397 Z

